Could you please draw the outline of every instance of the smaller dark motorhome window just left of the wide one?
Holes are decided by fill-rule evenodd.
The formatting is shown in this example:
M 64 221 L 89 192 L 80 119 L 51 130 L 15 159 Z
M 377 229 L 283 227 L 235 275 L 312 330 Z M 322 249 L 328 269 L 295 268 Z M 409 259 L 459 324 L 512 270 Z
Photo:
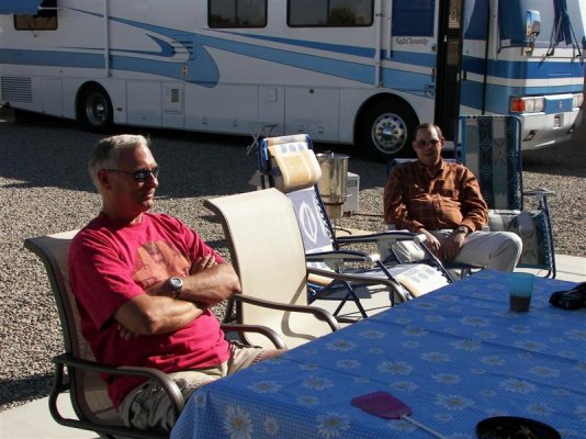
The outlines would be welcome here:
M 267 0 L 209 0 L 210 27 L 264 27 Z

